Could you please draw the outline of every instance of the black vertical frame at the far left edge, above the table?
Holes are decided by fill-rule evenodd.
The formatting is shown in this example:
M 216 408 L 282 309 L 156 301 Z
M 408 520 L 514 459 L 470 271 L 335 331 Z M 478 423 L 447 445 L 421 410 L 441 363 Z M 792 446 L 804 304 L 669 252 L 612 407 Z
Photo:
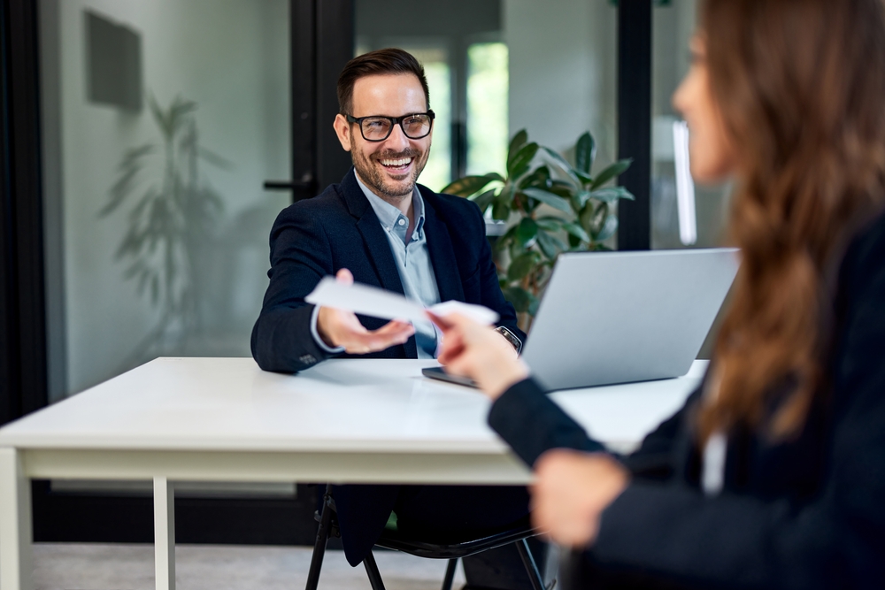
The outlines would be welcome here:
M 0 422 L 48 403 L 34 4 L 0 9 Z

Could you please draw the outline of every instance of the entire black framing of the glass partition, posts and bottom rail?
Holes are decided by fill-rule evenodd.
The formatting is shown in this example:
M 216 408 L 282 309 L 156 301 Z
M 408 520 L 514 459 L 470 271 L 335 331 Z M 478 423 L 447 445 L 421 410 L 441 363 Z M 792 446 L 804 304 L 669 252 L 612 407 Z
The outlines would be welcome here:
M 290 0 L 293 200 L 342 178 L 350 159 L 331 122 L 335 79 L 353 55 L 354 0 Z M 0 0 L 0 424 L 48 404 L 37 0 Z M 650 243 L 651 0 L 620 0 L 619 247 Z M 283 188 L 283 187 L 281 187 Z M 57 492 L 35 481 L 37 541 L 152 542 L 150 497 Z M 176 539 L 311 545 L 313 487 L 294 498 L 176 498 Z

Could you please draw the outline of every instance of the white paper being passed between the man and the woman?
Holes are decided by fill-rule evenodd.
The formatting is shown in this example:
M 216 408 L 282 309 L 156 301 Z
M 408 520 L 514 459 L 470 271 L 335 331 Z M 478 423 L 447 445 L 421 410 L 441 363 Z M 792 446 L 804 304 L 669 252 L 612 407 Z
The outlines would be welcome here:
M 304 297 L 304 301 L 338 310 L 353 311 L 373 318 L 427 321 L 425 308 L 420 303 L 410 301 L 398 293 L 361 283 L 343 285 L 335 280 L 335 277 L 325 277 L 320 280 L 311 294 Z M 498 314 L 488 307 L 459 301 L 437 303 L 427 310 L 442 318 L 450 313 L 459 313 L 486 325 L 494 324 L 498 319 Z

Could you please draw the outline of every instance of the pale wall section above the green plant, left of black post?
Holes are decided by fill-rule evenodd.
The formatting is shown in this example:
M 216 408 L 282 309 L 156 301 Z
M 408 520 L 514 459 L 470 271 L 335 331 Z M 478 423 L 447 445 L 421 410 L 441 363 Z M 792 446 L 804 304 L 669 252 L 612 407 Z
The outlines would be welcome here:
M 585 131 L 617 155 L 617 9 L 608 0 L 504 0 L 510 133 L 566 152 Z

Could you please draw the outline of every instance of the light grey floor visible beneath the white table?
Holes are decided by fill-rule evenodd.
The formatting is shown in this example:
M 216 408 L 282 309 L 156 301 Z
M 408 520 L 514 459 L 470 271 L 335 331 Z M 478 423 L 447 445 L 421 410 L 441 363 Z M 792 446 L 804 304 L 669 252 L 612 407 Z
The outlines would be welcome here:
M 178 590 L 293 590 L 304 588 L 311 548 L 180 545 L 175 548 Z M 387 590 L 438 590 L 446 562 L 376 551 Z M 150 590 L 150 545 L 36 543 L 35 590 Z M 458 568 L 454 587 L 464 585 Z M 328 551 L 319 590 L 368 590 L 362 566 L 351 568 L 341 551 Z

